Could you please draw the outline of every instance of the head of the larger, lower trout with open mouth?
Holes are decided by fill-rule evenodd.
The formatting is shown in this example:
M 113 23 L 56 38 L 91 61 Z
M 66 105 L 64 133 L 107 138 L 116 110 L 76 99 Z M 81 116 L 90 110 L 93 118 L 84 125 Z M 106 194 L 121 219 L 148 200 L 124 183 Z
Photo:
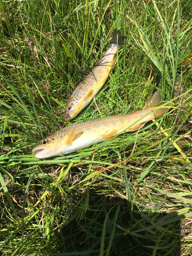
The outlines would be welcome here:
M 52 134 L 36 144 L 32 149 L 32 154 L 38 159 L 59 156 L 66 148 L 66 142 L 67 137 L 64 134 Z

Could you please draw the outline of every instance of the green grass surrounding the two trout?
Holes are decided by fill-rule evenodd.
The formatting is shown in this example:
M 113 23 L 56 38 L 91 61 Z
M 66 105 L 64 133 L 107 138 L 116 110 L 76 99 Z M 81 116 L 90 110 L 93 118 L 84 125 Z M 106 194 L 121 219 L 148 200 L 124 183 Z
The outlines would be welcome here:
M 192 255 L 191 10 L 190 0 L 0 1 L 1 255 Z M 116 66 L 67 122 L 67 99 L 115 28 L 128 37 Z M 141 110 L 157 89 L 177 108 L 156 125 L 33 158 L 47 134 Z

